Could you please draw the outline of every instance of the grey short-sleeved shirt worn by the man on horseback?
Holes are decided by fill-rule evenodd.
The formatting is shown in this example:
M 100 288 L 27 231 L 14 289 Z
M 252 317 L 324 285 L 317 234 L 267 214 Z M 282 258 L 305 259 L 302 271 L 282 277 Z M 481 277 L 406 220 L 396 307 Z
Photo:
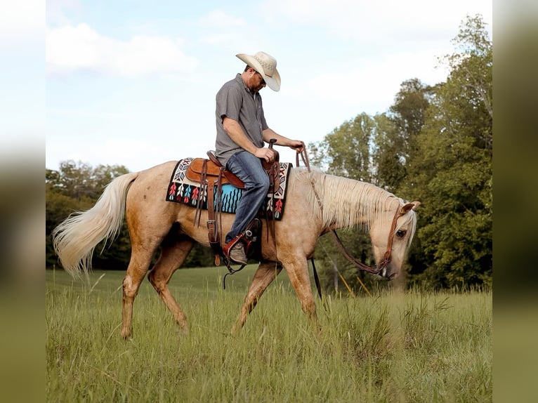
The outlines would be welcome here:
M 267 126 L 263 115 L 263 105 L 259 93 L 252 93 L 244 84 L 241 74 L 225 83 L 216 95 L 216 126 L 215 154 L 218 161 L 226 166 L 228 159 L 242 148 L 228 136 L 224 130 L 223 119 L 229 117 L 237 121 L 244 134 L 256 145 L 263 147 L 263 136 Z

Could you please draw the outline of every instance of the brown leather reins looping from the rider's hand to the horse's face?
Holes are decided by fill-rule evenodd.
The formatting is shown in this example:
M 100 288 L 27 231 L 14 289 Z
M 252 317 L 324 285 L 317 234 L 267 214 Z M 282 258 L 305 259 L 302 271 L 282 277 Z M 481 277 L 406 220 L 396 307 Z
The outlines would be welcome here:
M 306 166 L 306 169 L 308 172 L 311 172 L 310 170 L 310 163 L 308 162 L 308 154 L 306 153 L 306 148 L 303 147 L 303 151 L 297 153 L 296 155 L 296 166 L 299 166 L 299 154 L 301 154 L 301 159 L 303 160 L 303 163 Z M 312 189 L 314 191 L 315 197 L 317 199 L 317 204 L 319 204 L 320 209 L 322 211 L 323 215 L 323 204 L 321 202 L 319 194 L 317 194 L 317 191 L 315 190 L 315 186 L 312 180 L 310 180 L 310 185 L 312 185 Z M 387 249 L 385 251 L 385 254 L 383 255 L 383 260 L 381 262 L 376 264 L 376 267 L 370 267 L 368 265 L 365 265 L 364 263 L 360 262 L 359 260 L 353 258 L 353 256 L 350 256 L 348 251 L 346 251 L 346 248 L 343 246 L 338 234 L 336 234 L 336 231 L 333 228 L 329 228 L 329 232 L 331 232 L 332 237 L 334 239 L 334 242 L 336 243 L 336 246 L 339 247 L 340 251 L 342 252 L 343 256 L 346 257 L 350 261 L 350 263 L 353 263 L 355 267 L 357 267 L 359 270 L 364 270 L 365 272 L 372 273 L 374 275 L 379 275 L 379 273 L 385 269 L 388 265 L 388 263 L 391 262 L 391 253 L 393 249 L 393 238 L 394 238 L 394 232 L 396 230 L 396 222 L 398 221 L 398 218 L 403 216 L 407 211 L 402 211 L 400 207 L 396 210 L 394 213 L 393 222 L 391 223 L 391 230 L 388 232 L 388 242 L 387 242 Z M 313 263 L 313 262 L 312 262 Z M 316 274 L 316 273 L 314 273 Z M 319 292 L 318 288 L 318 292 Z

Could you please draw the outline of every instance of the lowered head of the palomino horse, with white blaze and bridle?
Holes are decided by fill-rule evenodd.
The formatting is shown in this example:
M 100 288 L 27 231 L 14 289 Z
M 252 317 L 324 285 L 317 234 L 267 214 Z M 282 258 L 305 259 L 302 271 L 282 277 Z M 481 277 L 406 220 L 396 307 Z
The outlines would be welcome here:
M 399 199 L 398 199 L 399 201 Z M 405 253 L 411 244 L 416 227 L 414 210 L 420 202 L 395 203 L 379 215 L 370 227 L 379 275 L 391 280 L 400 275 Z

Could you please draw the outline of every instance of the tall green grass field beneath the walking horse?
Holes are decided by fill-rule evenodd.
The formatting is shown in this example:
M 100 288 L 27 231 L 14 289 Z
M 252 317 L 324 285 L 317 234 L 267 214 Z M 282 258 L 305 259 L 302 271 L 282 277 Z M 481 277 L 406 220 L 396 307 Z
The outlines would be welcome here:
M 48 402 L 491 402 L 492 293 L 316 297 L 321 332 L 283 272 L 231 336 L 255 267 L 178 270 L 182 334 L 145 281 L 120 336 L 124 272 L 91 286 L 46 272 Z M 104 275 L 103 275 L 104 274 Z

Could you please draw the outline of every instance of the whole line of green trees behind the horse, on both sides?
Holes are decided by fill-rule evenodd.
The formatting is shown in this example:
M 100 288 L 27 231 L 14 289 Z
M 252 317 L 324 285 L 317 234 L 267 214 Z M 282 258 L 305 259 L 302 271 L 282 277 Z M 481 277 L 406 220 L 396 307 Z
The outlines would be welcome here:
M 308 145 L 322 171 L 374 183 L 408 200 L 419 200 L 417 231 L 409 250 L 407 284 L 428 289 L 492 284 L 492 41 L 480 15 L 467 16 L 454 38 L 455 51 L 440 62 L 450 73 L 428 86 L 404 81 L 387 112 L 360 113 L 324 139 Z M 58 265 L 51 231 L 70 212 L 95 204 L 103 187 L 127 173 L 125 166 L 63 161 L 46 169 L 46 265 Z M 367 235 L 341 234 L 355 258 L 374 263 Z M 125 269 L 126 228 L 110 246 L 96 248 L 93 264 Z M 316 249 L 326 289 L 379 285 L 343 259 L 332 239 Z M 185 266 L 211 266 L 209 248 L 196 246 Z M 361 284 L 362 283 L 362 284 Z

